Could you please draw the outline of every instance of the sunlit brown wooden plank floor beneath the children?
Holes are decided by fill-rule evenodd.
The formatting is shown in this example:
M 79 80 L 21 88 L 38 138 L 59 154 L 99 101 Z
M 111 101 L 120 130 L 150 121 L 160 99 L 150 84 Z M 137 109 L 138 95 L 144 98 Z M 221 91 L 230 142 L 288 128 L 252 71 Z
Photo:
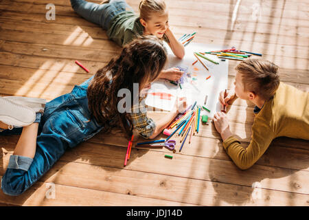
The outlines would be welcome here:
M 100 1 L 95 1 L 99 3 Z M 47 21 L 45 6 L 56 5 Z M 139 0 L 128 0 L 138 11 Z M 281 80 L 309 91 L 308 0 L 170 0 L 177 38 L 198 32 L 197 43 L 235 46 L 262 53 L 280 69 Z M 233 14 L 236 20 L 233 21 Z M 89 78 L 119 47 L 98 25 L 79 17 L 69 0 L 0 1 L 0 95 L 52 100 Z M 87 74 L 74 62 L 91 70 Z M 235 78 L 229 62 L 229 88 Z M 160 113 L 150 113 L 159 118 Z M 237 100 L 231 131 L 247 146 L 253 105 Z M 0 137 L 0 175 L 19 136 Z M 139 139 L 141 140 L 141 138 Z M 201 126 L 173 159 L 167 149 L 132 149 L 119 131 L 99 133 L 67 151 L 19 197 L 0 192 L 14 206 L 309 206 L 309 142 L 280 137 L 249 170 L 238 169 L 222 148 L 213 124 Z

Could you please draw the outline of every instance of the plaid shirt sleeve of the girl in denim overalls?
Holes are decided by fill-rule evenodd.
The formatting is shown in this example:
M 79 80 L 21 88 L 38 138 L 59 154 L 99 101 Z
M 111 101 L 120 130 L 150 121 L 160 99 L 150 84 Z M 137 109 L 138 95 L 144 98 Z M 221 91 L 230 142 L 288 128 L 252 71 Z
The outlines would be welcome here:
M 134 129 L 137 129 L 139 135 L 144 138 L 149 138 L 155 131 L 156 124 L 151 118 L 147 118 L 147 110 L 144 102 L 145 100 L 141 100 L 139 104 L 133 105 L 129 115 Z

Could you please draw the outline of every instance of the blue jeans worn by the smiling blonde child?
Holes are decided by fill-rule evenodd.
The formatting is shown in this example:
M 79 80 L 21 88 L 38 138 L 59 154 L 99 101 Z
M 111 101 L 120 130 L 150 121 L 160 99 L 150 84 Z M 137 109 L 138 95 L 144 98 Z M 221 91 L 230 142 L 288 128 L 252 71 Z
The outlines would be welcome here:
M 100 25 L 108 30 L 109 23 L 115 15 L 124 12 L 126 8 L 133 9 L 125 0 L 111 0 L 110 3 L 97 4 L 84 0 L 71 0 L 73 10 L 87 21 Z

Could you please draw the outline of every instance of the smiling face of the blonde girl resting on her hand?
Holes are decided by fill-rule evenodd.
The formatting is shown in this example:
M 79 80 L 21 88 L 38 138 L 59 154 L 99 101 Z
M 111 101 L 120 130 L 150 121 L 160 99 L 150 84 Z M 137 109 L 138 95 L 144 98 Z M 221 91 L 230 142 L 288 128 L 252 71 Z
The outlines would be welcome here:
M 144 26 L 147 34 L 155 35 L 161 39 L 169 28 L 168 12 L 164 12 L 163 14 L 153 13 L 149 20 L 144 21 L 142 19 L 141 24 Z

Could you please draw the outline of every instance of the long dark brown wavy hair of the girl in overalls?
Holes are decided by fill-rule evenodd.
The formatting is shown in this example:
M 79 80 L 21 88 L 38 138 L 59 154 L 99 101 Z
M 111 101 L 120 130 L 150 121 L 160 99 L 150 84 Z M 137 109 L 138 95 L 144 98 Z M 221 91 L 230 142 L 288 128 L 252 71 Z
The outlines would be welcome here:
M 133 94 L 133 83 L 139 83 L 139 90 L 143 89 L 159 76 L 166 60 L 165 48 L 157 37 L 141 36 L 98 70 L 88 87 L 88 106 L 95 120 L 108 128 L 106 132 L 120 126 L 127 137 L 132 136 L 133 125 L 128 113 L 117 109 L 122 99 L 117 93 L 119 89 L 129 89 Z

